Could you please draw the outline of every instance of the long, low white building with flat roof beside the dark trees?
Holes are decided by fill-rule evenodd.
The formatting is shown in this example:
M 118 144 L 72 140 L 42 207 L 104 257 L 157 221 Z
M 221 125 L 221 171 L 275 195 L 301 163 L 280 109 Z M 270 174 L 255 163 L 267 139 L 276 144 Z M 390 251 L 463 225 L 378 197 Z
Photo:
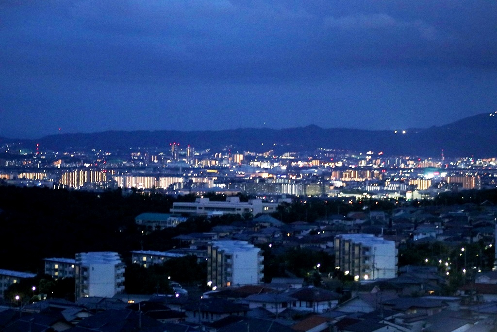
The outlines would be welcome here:
M 197 198 L 195 202 L 174 202 L 171 214 L 209 215 L 213 213 L 243 215 L 251 213 L 272 213 L 276 211 L 278 203 L 265 203 L 262 200 L 240 202 L 239 197 L 228 197 L 225 202 L 211 202 L 208 198 Z

